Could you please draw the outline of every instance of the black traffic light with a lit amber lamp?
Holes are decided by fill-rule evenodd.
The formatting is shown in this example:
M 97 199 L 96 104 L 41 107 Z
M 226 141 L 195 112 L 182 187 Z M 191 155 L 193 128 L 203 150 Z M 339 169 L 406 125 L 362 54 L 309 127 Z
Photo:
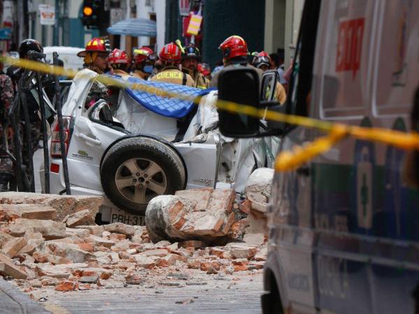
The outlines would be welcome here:
M 109 11 L 105 12 L 105 0 L 84 0 L 82 23 L 89 29 L 107 26 Z

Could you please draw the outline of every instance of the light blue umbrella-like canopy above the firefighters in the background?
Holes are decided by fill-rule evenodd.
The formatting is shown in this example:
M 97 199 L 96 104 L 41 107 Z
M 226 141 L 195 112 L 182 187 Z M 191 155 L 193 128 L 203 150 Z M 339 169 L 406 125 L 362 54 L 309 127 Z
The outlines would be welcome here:
M 147 19 L 128 19 L 119 21 L 107 29 L 113 35 L 156 37 L 156 22 Z

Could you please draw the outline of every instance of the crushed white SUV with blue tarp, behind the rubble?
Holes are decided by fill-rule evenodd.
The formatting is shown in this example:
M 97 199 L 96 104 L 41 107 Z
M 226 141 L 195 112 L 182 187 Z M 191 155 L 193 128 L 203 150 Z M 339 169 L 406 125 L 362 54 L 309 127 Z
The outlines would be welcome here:
M 270 164 L 271 140 L 223 137 L 216 91 L 196 106 L 133 89 L 112 89 L 112 100 L 89 102 L 97 87 L 91 70 L 74 78 L 63 105 L 72 195 L 103 196 L 101 220 L 143 225 L 149 200 L 189 188 L 242 192 L 253 170 Z M 115 78 L 115 77 L 114 77 Z M 189 96 L 203 91 L 168 83 L 116 77 Z M 98 83 L 101 84 L 101 83 Z M 182 90 L 179 90 L 182 89 Z M 57 123 L 50 140 L 50 192 L 65 191 Z M 275 144 L 275 143 L 274 143 Z M 43 179 L 43 167 L 40 177 Z

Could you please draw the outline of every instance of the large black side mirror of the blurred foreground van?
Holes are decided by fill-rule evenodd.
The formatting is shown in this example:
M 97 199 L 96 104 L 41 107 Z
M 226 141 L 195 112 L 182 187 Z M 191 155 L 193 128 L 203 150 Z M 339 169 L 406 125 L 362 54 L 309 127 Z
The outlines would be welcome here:
M 260 107 L 259 77 L 253 68 L 222 70 L 218 89 L 219 100 Z M 228 137 L 255 137 L 259 133 L 259 119 L 246 114 L 219 110 L 219 125 L 221 133 Z

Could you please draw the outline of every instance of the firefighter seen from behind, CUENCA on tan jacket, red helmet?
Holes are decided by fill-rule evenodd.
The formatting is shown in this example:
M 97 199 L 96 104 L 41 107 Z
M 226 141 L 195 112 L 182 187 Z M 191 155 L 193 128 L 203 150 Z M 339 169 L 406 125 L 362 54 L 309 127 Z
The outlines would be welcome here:
M 161 72 L 154 75 L 150 80 L 153 82 L 167 82 L 172 84 L 186 85 L 195 87 L 191 75 L 179 70 L 179 63 L 182 60 L 182 52 L 175 43 L 168 43 L 163 46 L 159 53 L 159 58 L 163 62 Z

